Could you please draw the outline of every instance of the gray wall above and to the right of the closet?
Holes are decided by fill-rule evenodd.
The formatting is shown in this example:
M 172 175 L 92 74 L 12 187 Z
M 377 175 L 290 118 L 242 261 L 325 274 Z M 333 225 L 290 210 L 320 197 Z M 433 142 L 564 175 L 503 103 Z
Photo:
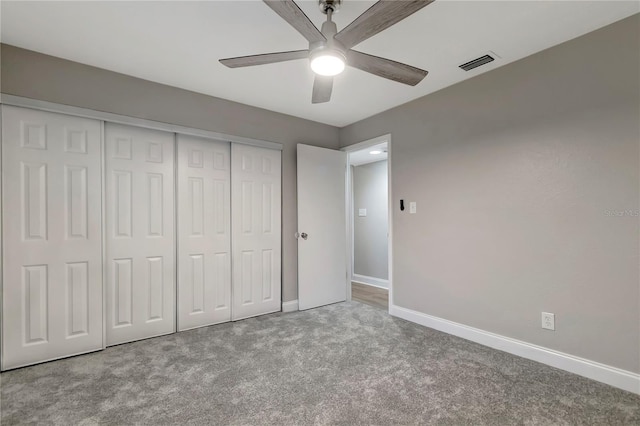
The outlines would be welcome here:
M 338 147 L 338 129 L 3 44 L 3 93 L 280 142 L 283 300 L 297 287 L 296 144 Z

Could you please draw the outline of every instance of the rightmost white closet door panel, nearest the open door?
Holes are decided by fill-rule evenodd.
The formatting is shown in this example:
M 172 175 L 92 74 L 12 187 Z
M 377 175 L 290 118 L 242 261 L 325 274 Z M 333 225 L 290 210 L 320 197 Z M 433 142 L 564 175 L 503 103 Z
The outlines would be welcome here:
M 231 147 L 232 319 L 281 309 L 281 152 Z

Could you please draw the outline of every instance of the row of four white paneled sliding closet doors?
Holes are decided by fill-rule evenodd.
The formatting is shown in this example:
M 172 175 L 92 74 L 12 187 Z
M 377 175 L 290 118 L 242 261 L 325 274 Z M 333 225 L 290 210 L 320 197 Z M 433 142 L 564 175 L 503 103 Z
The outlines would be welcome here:
M 2 370 L 281 309 L 279 150 L 1 108 Z

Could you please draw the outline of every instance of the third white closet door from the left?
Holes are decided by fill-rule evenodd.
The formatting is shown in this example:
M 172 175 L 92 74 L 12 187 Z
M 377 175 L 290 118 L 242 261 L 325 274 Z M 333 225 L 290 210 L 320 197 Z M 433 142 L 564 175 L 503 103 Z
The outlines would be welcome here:
M 231 147 L 178 135 L 178 330 L 231 320 Z

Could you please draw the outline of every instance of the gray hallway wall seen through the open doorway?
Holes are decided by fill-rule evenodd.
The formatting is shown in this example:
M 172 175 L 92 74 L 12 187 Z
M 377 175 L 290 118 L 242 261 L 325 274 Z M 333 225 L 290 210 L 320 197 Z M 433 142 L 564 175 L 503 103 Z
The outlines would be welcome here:
M 353 273 L 389 278 L 387 161 L 353 167 Z M 365 217 L 359 209 L 367 209 Z

